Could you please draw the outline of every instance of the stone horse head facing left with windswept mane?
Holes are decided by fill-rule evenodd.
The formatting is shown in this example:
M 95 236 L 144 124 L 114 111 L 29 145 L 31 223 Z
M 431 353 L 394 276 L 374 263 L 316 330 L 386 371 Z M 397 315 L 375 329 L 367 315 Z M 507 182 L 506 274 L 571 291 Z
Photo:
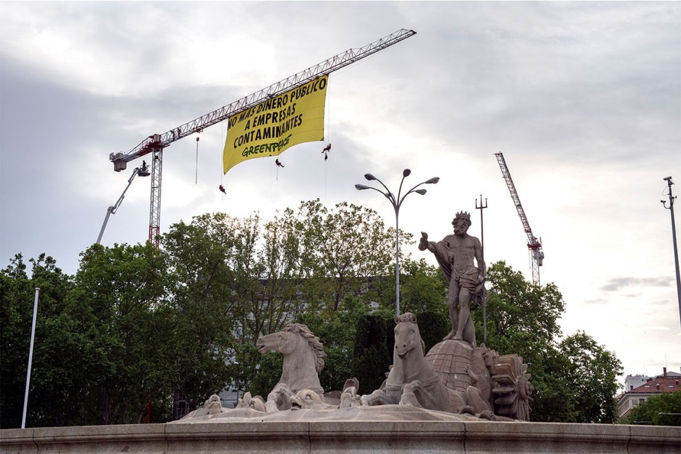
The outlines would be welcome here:
M 324 368 L 324 347 L 305 325 L 293 323 L 279 332 L 258 339 L 258 352 L 283 354 L 283 370 L 277 385 L 285 385 L 292 393 L 312 389 L 323 396 L 318 373 Z

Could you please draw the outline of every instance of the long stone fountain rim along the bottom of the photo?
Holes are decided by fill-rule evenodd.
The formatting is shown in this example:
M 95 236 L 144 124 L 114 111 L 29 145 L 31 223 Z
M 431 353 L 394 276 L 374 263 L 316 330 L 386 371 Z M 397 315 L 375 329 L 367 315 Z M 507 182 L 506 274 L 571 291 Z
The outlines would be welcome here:
M 2 453 L 678 453 L 681 427 L 486 421 L 136 424 L 0 431 Z

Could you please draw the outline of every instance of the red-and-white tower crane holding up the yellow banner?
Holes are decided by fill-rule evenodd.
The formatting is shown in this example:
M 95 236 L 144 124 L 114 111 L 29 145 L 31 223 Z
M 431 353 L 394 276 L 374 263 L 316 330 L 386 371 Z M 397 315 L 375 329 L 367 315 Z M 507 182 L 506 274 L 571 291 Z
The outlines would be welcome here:
M 263 100 L 279 96 L 283 92 L 296 87 L 305 85 L 321 76 L 326 76 L 337 69 L 343 68 L 347 65 L 355 63 L 367 56 L 376 54 L 380 50 L 384 50 L 393 44 L 399 43 L 416 34 L 413 30 L 406 30 L 404 28 L 397 32 L 391 33 L 382 37 L 378 41 L 367 44 L 364 47 L 352 48 L 341 52 L 340 54 L 328 58 L 327 60 L 317 63 L 303 71 L 294 74 L 279 82 L 263 88 L 260 91 L 250 94 L 245 98 L 241 98 L 224 107 L 210 112 L 204 116 L 196 118 L 191 122 L 180 125 L 163 134 L 152 134 L 148 138 L 142 140 L 137 147 L 123 153 L 111 153 L 109 160 L 114 163 L 114 171 L 120 172 L 126 169 L 127 163 L 140 158 L 141 156 L 151 153 L 151 197 L 149 208 L 149 241 L 154 241 L 158 247 L 158 235 L 160 233 L 160 211 L 161 211 L 161 171 L 163 150 L 169 147 L 170 144 L 176 140 L 180 140 L 193 133 L 200 133 L 209 126 L 215 125 L 223 120 L 227 120 L 230 116 L 239 114 L 258 105 Z

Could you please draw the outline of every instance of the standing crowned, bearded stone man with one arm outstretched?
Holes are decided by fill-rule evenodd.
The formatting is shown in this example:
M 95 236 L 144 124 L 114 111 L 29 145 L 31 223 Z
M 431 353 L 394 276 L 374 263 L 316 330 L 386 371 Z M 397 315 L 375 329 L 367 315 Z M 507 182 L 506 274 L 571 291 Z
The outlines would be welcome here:
M 486 303 L 487 290 L 483 283 L 487 278 L 487 267 L 482 259 L 480 240 L 466 233 L 471 226 L 471 215 L 463 211 L 457 213 L 452 225 L 454 235 L 447 235 L 437 243 L 428 241 L 428 234 L 422 232 L 418 248 L 433 252 L 449 280 L 447 305 L 452 330 L 444 340 L 465 340 L 475 346 L 471 301 Z

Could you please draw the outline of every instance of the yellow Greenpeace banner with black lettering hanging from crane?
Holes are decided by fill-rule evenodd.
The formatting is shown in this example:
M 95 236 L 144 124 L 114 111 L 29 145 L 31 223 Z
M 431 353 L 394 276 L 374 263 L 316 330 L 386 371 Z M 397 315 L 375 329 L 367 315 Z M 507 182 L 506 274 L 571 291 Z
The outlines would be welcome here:
M 261 102 L 229 118 L 222 170 L 253 158 L 275 156 L 303 142 L 324 140 L 329 76 Z

